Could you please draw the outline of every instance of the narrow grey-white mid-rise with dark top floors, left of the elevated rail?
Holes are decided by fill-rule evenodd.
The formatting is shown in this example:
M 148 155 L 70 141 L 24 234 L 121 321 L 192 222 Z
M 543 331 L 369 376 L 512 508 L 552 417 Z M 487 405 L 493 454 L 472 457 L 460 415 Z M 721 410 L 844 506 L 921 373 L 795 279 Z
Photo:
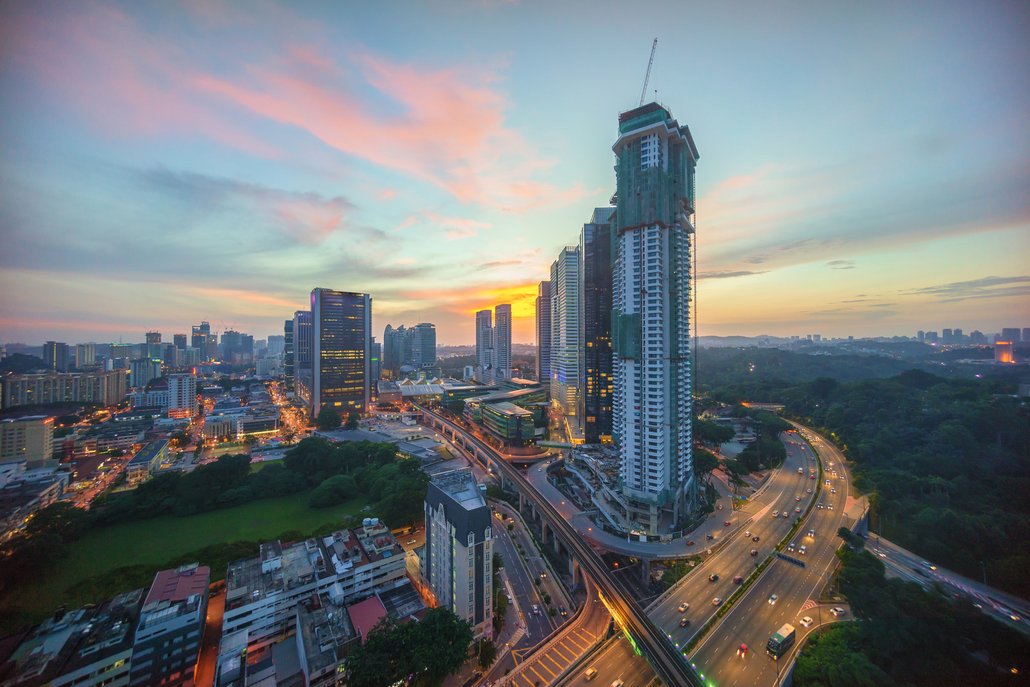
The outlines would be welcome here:
M 440 473 L 425 493 L 425 566 L 421 571 L 438 606 L 492 638 L 493 597 L 490 508 L 470 468 Z

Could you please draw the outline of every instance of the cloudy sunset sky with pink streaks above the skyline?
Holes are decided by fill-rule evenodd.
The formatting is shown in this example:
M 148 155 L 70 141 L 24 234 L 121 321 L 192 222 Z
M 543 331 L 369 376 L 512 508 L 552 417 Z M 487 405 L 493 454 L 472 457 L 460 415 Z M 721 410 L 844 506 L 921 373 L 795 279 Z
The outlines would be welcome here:
M 531 343 L 655 37 L 702 336 L 1030 327 L 1026 3 L 40 0 L 0 3 L 0 341 L 262 339 L 328 287 Z

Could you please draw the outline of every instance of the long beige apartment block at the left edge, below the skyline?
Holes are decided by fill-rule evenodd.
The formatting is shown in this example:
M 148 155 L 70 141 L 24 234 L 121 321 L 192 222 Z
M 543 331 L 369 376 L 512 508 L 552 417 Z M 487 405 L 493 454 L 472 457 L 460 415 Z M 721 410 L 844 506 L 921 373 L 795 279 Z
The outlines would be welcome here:
M 122 403 L 126 396 L 124 371 L 47 372 L 36 375 L 7 375 L 0 378 L 0 403 L 3 408 L 88 401 L 104 406 Z

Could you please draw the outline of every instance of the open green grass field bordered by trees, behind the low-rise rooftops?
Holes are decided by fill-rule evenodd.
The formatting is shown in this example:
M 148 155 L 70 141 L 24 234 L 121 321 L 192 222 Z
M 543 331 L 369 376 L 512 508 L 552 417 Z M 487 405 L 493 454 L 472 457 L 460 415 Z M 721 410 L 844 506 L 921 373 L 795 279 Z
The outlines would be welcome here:
M 63 603 L 65 589 L 92 575 L 123 565 L 161 563 L 219 542 L 268 539 L 287 529 L 309 533 L 344 515 L 356 515 L 366 506 L 365 497 L 357 496 L 333 508 L 308 508 L 309 495 L 304 491 L 184 518 L 153 518 L 91 531 L 72 545 L 68 557 L 46 579 L 0 596 L 3 625 L 38 622 Z

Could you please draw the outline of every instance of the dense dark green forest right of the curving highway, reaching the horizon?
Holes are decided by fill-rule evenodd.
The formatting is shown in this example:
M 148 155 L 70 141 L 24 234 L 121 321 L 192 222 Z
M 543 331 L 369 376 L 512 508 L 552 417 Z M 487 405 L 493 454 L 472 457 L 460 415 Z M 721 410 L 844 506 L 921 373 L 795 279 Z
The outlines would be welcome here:
M 784 415 L 842 448 L 856 486 L 872 493 L 873 529 L 968 577 L 986 569 L 992 586 L 1030 596 L 1030 408 L 1012 396 L 1018 377 L 945 378 L 911 363 L 894 372 L 905 364 L 889 358 L 708 352 L 699 379 L 711 399 L 783 403 Z

